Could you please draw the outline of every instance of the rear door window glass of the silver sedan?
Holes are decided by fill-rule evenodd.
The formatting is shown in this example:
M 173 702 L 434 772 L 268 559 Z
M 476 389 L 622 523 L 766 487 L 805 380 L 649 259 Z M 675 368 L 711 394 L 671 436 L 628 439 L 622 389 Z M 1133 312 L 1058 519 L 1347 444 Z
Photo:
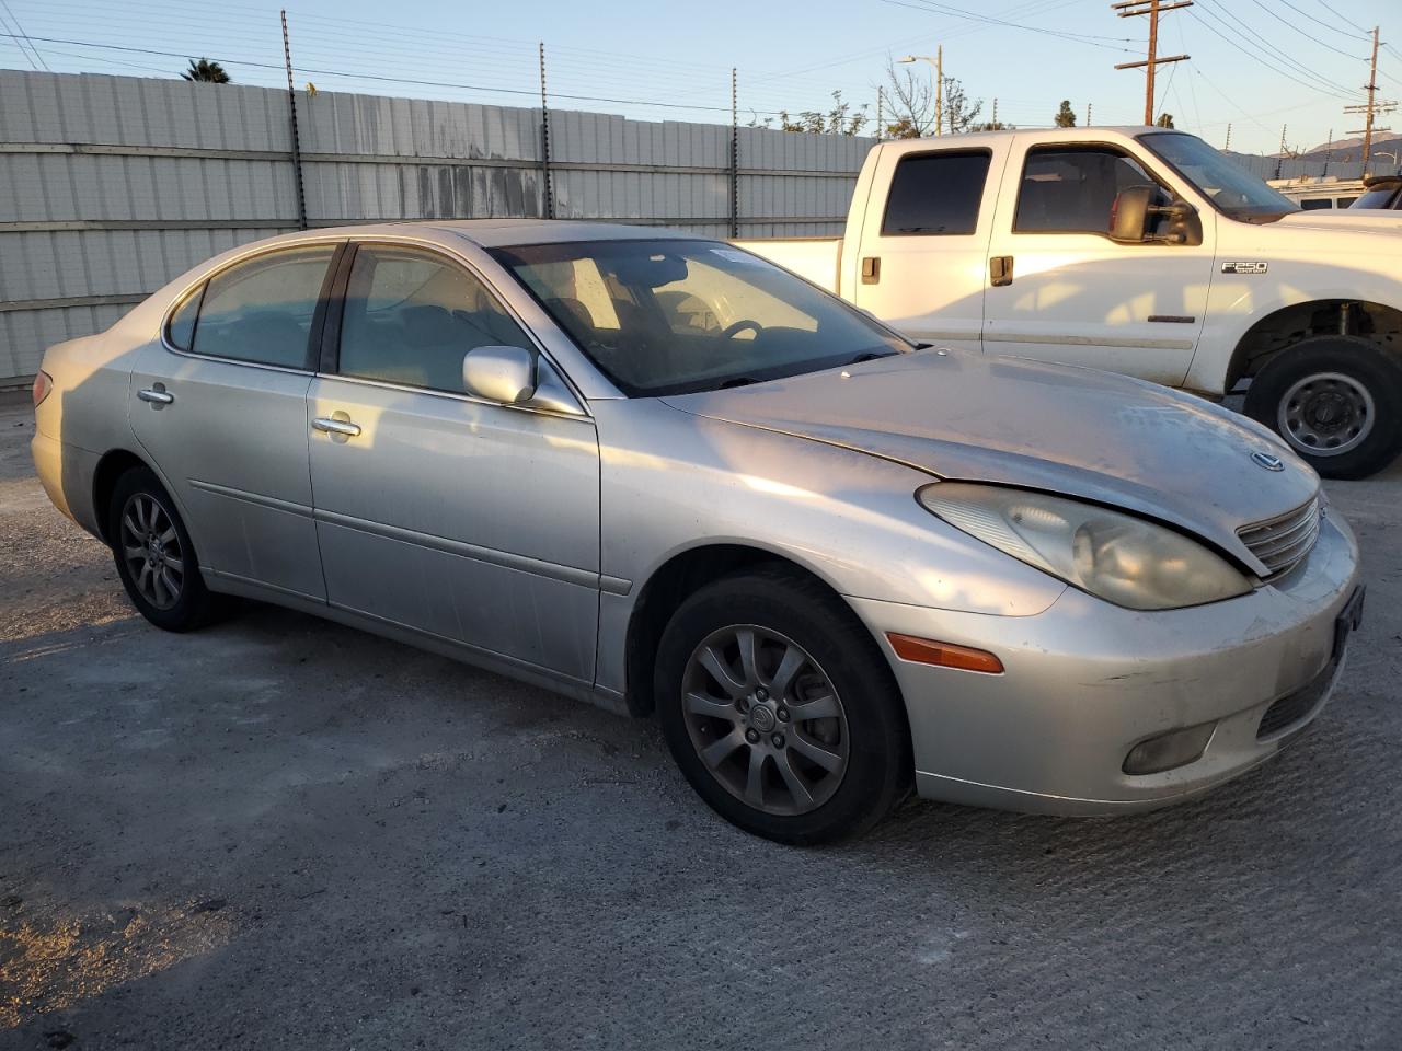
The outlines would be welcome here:
M 335 251 L 334 244 L 289 248 L 216 273 L 205 286 L 191 352 L 307 369 L 311 322 Z M 174 339 L 184 338 L 177 324 L 184 312 L 171 321 Z

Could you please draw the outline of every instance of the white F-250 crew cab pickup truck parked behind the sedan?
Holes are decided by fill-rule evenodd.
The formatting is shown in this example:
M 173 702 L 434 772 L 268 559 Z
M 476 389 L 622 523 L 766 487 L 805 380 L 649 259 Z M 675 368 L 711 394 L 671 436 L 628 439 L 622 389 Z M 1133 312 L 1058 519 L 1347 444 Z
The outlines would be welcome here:
M 1326 476 L 1402 450 L 1402 216 L 1155 128 L 882 143 L 841 238 L 739 241 L 907 335 L 1221 398 Z

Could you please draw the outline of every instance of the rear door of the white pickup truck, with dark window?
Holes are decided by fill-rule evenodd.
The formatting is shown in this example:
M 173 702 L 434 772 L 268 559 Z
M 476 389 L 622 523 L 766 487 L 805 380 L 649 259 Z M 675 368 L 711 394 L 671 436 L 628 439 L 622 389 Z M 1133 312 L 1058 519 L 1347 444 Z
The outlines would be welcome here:
M 914 339 L 979 350 L 1007 153 L 1007 139 L 917 153 L 885 147 L 872 185 L 886 196 L 862 217 L 852 301 Z

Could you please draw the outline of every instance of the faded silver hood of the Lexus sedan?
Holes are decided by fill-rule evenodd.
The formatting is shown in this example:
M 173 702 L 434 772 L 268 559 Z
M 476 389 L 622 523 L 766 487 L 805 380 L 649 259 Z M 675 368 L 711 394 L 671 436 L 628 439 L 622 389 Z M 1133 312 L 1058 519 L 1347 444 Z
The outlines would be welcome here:
M 1300 507 L 1319 476 L 1260 425 L 1189 394 L 1089 369 L 923 350 L 665 398 L 672 408 L 823 441 L 942 479 L 1117 506 L 1193 533 L 1256 573 L 1237 530 Z M 1267 469 L 1252 453 L 1277 457 Z

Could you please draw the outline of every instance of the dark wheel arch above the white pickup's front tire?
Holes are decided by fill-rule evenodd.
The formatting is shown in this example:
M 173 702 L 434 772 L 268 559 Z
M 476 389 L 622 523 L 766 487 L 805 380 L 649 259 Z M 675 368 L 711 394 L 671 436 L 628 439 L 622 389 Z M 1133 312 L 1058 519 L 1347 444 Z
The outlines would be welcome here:
M 1308 300 L 1279 307 L 1246 329 L 1232 350 L 1224 392 L 1231 394 L 1302 339 L 1325 335 L 1367 339 L 1402 360 L 1402 310 L 1345 297 Z

